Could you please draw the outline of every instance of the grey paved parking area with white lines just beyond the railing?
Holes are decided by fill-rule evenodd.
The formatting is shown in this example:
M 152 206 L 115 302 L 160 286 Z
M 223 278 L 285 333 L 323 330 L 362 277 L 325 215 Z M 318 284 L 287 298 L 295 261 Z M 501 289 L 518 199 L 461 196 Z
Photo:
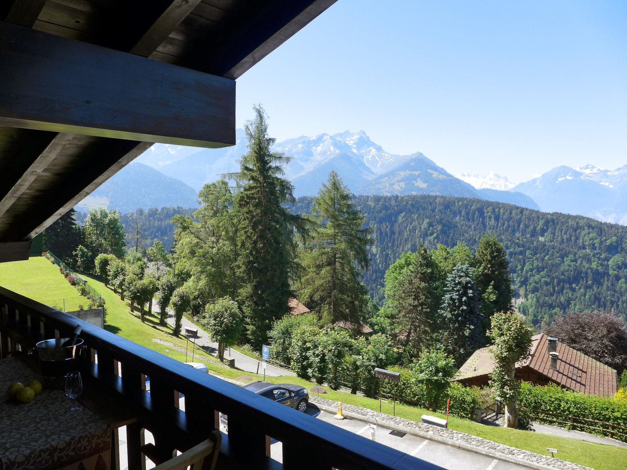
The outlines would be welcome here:
M 316 419 L 323 420 L 333 426 L 342 427 L 350 432 L 364 436 L 370 442 L 370 429 L 362 421 L 344 419 L 337 420 L 330 413 L 317 409 L 315 405 L 310 405 L 307 414 Z M 221 431 L 227 432 L 224 426 L 220 426 Z M 499 461 L 492 457 L 485 457 L 473 452 L 462 451 L 455 447 L 445 446 L 434 441 L 427 441 L 421 437 L 406 434 L 403 437 L 396 437 L 390 433 L 390 429 L 378 427 L 376 431 L 376 441 L 384 446 L 393 447 L 411 456 L 431 462 L 449 470 L 527 470 L 527 467 L 518 466 L 509 462 Z M 283 444 L 272 439 L 270 444 L 270 456 L 282 462 Z

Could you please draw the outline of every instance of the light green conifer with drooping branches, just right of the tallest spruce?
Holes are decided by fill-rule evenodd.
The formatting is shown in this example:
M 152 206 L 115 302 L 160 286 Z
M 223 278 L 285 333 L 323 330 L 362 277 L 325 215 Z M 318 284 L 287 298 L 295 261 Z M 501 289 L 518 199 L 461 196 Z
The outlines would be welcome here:
M 332 171 L 312 204 L 315 227 L 298 250 L 305 269 L 298 283 L 298 298 L 322 318 L 324 324 L 349 321 L 356 330 L 366 307 L 362 273 L 368 268 L 371 229 L 350 201 L 350 192 Z

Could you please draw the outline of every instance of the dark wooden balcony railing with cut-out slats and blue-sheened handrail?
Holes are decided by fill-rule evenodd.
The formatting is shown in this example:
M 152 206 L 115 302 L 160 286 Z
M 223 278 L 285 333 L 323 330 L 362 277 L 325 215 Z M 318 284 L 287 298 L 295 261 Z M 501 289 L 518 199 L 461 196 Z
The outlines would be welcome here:
M 438 469 L 416 457 L 297 412 L 194 370 L 161 353 L 0 287 L 0 354 L 27 352 L 43 339 L 70 335 L 77 324 L 91 350 L 83 368 L 85 387 L 112 405 L 134 410 L 127 426 L 129 469 L 142 469 L 145 456 L 166 461 L 219 429 L 228 415 L 228 436 L 218 458 L 228 469 Z M 95 357 L 97 355 L 97 360 Z M 150 377 L 150 392 L 144 377 Z M 179 409 L 184 394 L 185 410 Z M 154 446 L 142 446 L 142 432 Z M 283 462 L 270 459 L 270 437 L 283 444 Z

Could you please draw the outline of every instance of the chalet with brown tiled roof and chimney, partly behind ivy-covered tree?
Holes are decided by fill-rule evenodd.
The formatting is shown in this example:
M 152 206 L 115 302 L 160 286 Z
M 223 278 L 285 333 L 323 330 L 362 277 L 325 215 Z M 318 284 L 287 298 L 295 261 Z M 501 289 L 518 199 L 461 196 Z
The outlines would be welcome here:
M 481 348 L 468 358 L 453 380 L 487 385 L 493 368 L 490 347 Z M 558 384 L 599 397 L 613 396 L 618 387 L 616 370 L 544 334 L 532 337 L 531 357 L 516 363 L 516 378 L 537 385 Z

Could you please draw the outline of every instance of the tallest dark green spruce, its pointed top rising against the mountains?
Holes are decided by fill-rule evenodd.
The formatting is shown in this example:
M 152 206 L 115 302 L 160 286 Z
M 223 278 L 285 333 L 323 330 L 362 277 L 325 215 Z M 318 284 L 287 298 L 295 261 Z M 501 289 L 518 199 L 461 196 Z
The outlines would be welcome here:
M 236 271 L 241 287 L 236 300 L 251 344 L 260 347 L 273 321 L 288 311 L 295 269 L 293 232 L 304 229 L 304 219 L 283 207 L 295 202 L 293 186 L 283 178 L 282 166 L 290 157 L 270 150 L 275 139 L 268 137 L 265 112 L 253 109 L 255 120 L 245 128 L 248 153 L 240 159 L 240 171 L 225 177 L 238 186 Z

